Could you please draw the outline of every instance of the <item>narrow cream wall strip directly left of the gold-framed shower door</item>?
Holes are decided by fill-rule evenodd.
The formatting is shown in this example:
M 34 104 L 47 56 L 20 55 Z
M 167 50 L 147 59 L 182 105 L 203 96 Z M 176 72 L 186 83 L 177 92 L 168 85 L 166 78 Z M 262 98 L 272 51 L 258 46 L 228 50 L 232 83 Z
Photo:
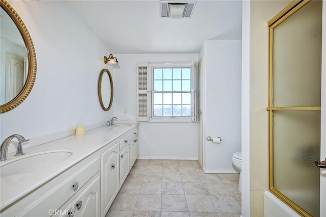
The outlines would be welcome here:
M 267 22 L 291 1 L 250 3 L 250 216 L 263 216 L 263 193 L 268 189 L 268 26 Z M 248 42 L 248 41 L 247 41 Z M 248 55 L 246 52 L 245 55 Z M 248 121 L 248 120 L 247 120 Z M 248 153 L 247 153 L 248 154 Z M 248 155 L 247 155 L 248 156 Z

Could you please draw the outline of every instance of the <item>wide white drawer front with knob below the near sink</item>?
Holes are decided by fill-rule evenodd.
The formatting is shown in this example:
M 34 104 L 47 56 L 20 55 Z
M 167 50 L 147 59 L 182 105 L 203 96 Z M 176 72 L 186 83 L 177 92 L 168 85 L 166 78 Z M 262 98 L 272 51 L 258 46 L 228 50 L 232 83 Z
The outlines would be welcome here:
M 79 164 L 75 166 L 79 169 L 77 172 L 74 173 L 72 170 L 68 170 L 60 176 L 65 178 L 64 181 L 61 182 L 60 179 L 53 179 L 51 182 L 55 183 L 55 185 L 52 185 L 52 187 L 48 186 L 49 188 L 47 188 L 48 191 L 46 194 L 38 198 L 34 204 L 31 204 L 17 216 L 49 216 L 51 214 L 50 210 L 56 210 L 61 207 L 62 204 L 77 193 L 92 177 L 99 174 L 100 157 L 96 157 L 86 165 L 78 166 Z

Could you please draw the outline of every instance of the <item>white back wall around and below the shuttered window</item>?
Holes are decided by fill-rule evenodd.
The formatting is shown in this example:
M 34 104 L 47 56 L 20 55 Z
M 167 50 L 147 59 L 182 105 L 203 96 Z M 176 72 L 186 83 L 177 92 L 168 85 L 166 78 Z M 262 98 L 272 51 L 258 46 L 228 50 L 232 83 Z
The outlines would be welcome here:
M 116 55 L 120 69 L 114 80 L 114 115 L 119 121 L 137 119 L 137 63 L 197 61 L 198 54 Z M 111 69 L 109 68 L 111 71 Z M 124 110 L 127 114 L 124 114 Z M 139 158 L 197 159 L 197 123 L 147 123 L 139 125 Z

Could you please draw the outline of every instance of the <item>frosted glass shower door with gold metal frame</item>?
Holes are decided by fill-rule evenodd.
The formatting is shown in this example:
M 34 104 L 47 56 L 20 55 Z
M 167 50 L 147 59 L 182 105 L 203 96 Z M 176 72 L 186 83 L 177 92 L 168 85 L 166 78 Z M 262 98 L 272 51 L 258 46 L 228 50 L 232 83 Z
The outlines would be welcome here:
M 326 154 L 322 2 L 294 1 L 268 26 L 269 189 L 303 216 L 324 216 L 325 180 L 315 166 Z

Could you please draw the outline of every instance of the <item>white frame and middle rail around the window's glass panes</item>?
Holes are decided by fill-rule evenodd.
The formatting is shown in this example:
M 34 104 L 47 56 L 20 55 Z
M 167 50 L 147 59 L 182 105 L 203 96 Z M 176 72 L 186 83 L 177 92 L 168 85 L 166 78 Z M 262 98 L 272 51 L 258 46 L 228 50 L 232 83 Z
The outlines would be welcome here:
M 149 84 L 149 122 L 193 122 L 192 120 L 192 111 L 189 116 L 154 116 L 154 93 L 157 93 L 157 91 L 154 91 L 154 69 L 155 68 L 190 68 L 191 70 L 191 77 L 190 77 L 190 83 L 191 83 L 191 90 L 186 91 L 186 93 L 191 94 L 191 102 L 190 102 L 190 107 L 191 110 L 192 104 L 194 103 L 193 94 L 196 94 L 195 90 L 196 87 L 193 87 L 193 79 L 195 79 L 194 73 L 196 75 L 196 69 L 193 66 L 193 62 L 152 62 L 148 63 L 148 84 Z M 173 78 L 173 77 L 172 77 Z M 164 80 L 164 78 L 162 78 Z M 173 81 L 173 79 L 171 79 Z M 182 82 L 182 79 L 181 79 Z M 176 91 L 175 93 L 183 93 L 185 91 Z M 194 93 L 193 93 L 194 92 Z M 164 94 L 165 91 L 162 89 L 162 91 L 159 91 L 159 93 Z M 174 93 L 174 91 L 167 91 L 167 93 Z M 196 104 L 196 102 L 194 103 Z M 164 105 L 164 103 L 162 103 Z M 173 105 L 173 103 L 172 103 Z

